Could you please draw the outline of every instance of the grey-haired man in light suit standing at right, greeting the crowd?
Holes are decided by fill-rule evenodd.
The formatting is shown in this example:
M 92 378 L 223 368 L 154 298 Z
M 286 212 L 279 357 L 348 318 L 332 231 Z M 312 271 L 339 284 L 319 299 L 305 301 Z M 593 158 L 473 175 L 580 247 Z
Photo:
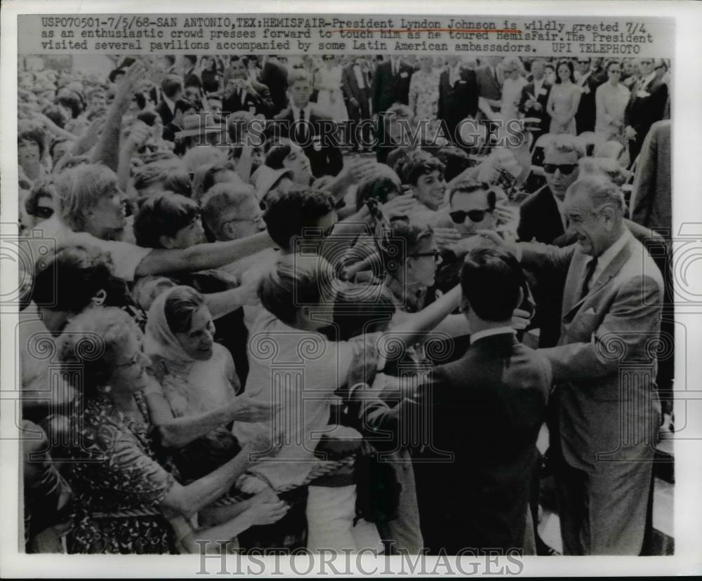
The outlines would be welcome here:
M 512 247 L 539 276 L 567 272 L 558 345 L 539 349 L 557 386 L 550 429 L 564 553 L 638 555 L 660 422 L 663 278 L 607 178 L 574 182 L 565 206 L 576 244 Z

